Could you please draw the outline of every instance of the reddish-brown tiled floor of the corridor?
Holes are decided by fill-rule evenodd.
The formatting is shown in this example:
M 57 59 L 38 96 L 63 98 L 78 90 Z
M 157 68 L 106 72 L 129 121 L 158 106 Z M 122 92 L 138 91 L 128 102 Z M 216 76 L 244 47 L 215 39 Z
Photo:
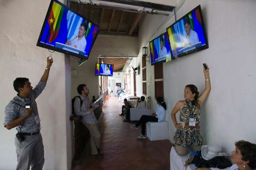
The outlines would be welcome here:
M 105 123 L 102 131 L 102 158 L 85 157 L 73 170 L 169 170 L 169 140 L 140 139 L 140 128 L 130 129 L 131 123 L 123 122 L 122 102 L 115 97 L 105 102 Z

